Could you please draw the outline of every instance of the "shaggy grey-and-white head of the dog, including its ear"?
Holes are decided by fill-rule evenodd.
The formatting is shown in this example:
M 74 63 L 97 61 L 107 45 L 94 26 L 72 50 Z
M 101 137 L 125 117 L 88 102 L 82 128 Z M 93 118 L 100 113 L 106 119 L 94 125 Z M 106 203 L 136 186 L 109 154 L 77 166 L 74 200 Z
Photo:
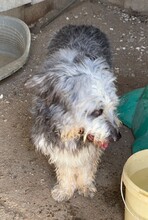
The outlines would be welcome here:
M 28 85 L 43 97 L 63 141 L 83 138 L 105 149 L 121 137 L 115 77 L 104 59 L 82 61 L 70 51 L 60 61 L 60 55 L 52 57 L 44 74 Z

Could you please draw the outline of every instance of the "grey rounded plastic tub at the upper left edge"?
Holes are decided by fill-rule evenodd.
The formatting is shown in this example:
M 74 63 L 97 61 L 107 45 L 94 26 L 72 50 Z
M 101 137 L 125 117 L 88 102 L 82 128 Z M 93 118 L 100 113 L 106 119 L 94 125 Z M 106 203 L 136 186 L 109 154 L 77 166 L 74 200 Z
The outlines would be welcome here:
M 30 42 L 30 30 L 23 21 L 0 16 L 0 80 L 26 63 Z

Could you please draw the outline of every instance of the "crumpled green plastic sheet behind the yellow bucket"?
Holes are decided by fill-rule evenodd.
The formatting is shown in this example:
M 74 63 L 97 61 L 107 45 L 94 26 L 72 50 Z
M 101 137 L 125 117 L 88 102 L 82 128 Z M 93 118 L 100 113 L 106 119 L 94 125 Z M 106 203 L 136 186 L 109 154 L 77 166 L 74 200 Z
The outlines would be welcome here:
M 119 118 L 132 130 L 132 152 L 148 149 L 148 86 L 126 93 L 120 99 Z

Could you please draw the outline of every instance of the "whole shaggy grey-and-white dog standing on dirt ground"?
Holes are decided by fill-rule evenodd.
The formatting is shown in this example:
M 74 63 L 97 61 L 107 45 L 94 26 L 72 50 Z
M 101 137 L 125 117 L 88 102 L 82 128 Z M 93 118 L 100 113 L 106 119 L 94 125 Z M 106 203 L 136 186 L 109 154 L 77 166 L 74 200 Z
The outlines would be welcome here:
M 52 196 L 68 200 L 78 190 L 93 196 L 100 156 L 120 138 L 118 97 L 109 43 L 93 26 L 63 27 L 51 40 L 34 89 L 32 139 L 56 167 Z

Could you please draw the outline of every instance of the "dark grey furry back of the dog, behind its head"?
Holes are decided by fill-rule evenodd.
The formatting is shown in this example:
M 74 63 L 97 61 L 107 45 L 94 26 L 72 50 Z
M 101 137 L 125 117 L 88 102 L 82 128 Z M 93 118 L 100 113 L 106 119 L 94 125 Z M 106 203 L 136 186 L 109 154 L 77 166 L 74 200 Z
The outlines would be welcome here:
M 100 29 L 86 25 L 63 27 L 51 40 L 48 55 L 59 49 L 74 49 L 82 56 L 95 60 L 104 58 L 111 66 L 111 52 L 106 35 Z

